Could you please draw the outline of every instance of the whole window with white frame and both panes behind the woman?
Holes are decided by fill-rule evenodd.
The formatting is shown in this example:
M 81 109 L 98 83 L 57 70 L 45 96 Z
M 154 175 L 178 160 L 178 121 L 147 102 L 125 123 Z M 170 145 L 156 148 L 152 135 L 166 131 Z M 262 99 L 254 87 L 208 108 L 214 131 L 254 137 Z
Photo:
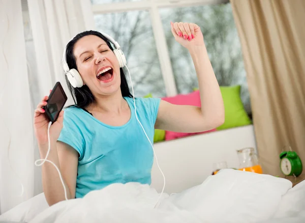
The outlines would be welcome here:
M 224 2 L 226 3 L 218 4 Z M 190 54 L 187 49 L 175 42 L 170 31 L 171 21 L 194 22 L 200 26 L 203 33 L 219 85 L 240 85 L 241 100 L 247 112 L 251 114 L 241 46 L 231 5 L 227 2 L 215 0 L 216 4 L 206 4 L 193 0 L 181 3 L 167 0 L 92 0 L 97 29 L 112 35 L 127 54 L 132 77 L 135 77 L 133 82 L 137 96 L 151 93 L 155 97 L 160 97 L 165 96 L 165 92 L 167 95 L 185 94 L 198 87 Z M 108 3 L 105 9 L 96 5 L 103 3 Z M 112 6 L 110 3 L 115 4 Z M 154 39 L 156 33 L 153 33 L 153 30 L 156 32 L 156 26 L 162 35 L 161 38 Z M 137 29 L 133 31 L 135 27 Z M 129 49 L 132 39 L 136 45 L 131 44 L 132 48 Z M 166 42 L 167 47 L 160 47 L 162 41 Z M 166 66 L 170 67 L 167 71 L 171 72 L 165 74 L 164 70 L 160 69 L 158 54 L 163 58 L 168 57 L 170 62 Z M 172 82 L 164 79 L 166 75 L 174 77 Z M 171 88 L 171 85 L 175 88 Z M 168 91 L 169 88 L 171 91 Z

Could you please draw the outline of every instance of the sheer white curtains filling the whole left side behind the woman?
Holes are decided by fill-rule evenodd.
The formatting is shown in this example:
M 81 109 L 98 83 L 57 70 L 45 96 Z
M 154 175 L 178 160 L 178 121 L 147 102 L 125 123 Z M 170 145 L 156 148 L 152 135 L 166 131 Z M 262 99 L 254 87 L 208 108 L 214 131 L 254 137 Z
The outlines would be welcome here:
M 25 40 L 21 35 L 20 0 L 0 0 L 0 4 L 1 1 L 0 207 L 3 213 L 42 192 L 41 168 L 34 165 L 39 158 L 33 133 L 34 109 L 56 81 L 62 83 L 69 97 L 66 105 L 73 103 L 62 69 L 63 50 L 74 35 L 95 29 L 95 25 L 90 0 L 27 0 L 32 38 Z M 18 176 L 9 168 L 8 148 Z M 24 185 L 21 197 L 18 197 L 19 182 Z

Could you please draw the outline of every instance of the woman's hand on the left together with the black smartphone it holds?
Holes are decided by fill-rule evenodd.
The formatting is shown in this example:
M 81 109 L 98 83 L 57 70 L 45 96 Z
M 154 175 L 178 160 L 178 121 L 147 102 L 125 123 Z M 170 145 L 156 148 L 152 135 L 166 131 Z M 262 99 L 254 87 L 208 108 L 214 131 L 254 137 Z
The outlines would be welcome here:
M 62 85 L 57 82 L 51 90 L 49 96 L 42 98 L 37 105 L 34 115 L 34 130 L 38 144 L 44 145 L 48 143 L 48 124 L 52 122 L 50 127 L 51 140 L 57 140 L 60 131 L 63 128 L 64 111 L 62 110 L 67 101 L 67 95 Z

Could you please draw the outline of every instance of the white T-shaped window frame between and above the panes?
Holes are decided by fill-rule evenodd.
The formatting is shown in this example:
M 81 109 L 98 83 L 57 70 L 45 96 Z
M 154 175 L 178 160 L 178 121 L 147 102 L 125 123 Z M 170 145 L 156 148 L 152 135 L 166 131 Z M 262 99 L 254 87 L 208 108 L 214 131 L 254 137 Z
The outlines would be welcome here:
M 177 95 L 172 65 L 170 62 L 169 50 L 166 43 L 164 29 L 159 9 L 161 8 L 178 8 L 194 7 L 210 4 L 228 3 L 229 0 L 146 0 L 136 2 L 106 3 L 92 5 L 92 14 L 122 13 L 130 11 L 148 11 L 150 15 L 151 26 L 155 37 L 159 63 L 162 77 L 164 80 L 166 96 Z

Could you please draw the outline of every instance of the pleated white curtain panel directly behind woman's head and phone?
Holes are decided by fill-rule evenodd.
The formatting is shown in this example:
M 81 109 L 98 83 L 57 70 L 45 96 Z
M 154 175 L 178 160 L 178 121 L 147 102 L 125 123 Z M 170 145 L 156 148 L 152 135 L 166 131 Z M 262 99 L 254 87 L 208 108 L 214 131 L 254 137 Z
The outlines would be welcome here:
M 56 81 L 62 83 L 68 97 L 62 56 L 66 43 L 77 33 L 95 29 L 90 0 L 27 0 L 35 47 L 38 92 L 35 102 L 48 94 Z M 30 71 L 31 72 L 31 71 Z M 34 72 L 34 71 L 33 71 Z M 36 95 L 36 94 L 35 94 Z M 71 104 L 69 98 L 67 104 Z

